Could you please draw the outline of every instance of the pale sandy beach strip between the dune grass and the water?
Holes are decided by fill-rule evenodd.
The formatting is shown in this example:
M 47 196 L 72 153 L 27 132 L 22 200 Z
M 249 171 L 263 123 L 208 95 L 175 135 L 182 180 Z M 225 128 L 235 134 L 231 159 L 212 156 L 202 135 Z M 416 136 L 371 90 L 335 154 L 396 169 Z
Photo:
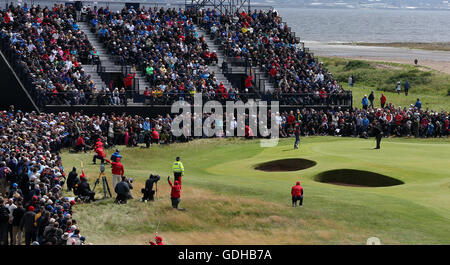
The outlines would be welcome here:
M 315 56 L 319 57 L 340 57 L 402 64 L 414 64 L 414 59 L 417 58 L 419 66 L 450 74 L 450 52 L 446 51 L 327 44 L 314 41 L 305 41 L 305 47 L 308 47 Z M 426 68 L 422 69 L 426 70 Z

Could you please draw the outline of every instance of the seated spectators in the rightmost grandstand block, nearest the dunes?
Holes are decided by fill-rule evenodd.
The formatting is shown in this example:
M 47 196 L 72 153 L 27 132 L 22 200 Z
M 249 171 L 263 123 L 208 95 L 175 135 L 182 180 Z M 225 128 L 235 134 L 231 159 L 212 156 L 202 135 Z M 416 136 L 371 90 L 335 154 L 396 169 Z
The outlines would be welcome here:
M 351 99 L 311 53 L 298 47 L 299 40 L 276 11 L 224 15 L 207 9 L 196 19 L 228 57 L 265 71 L 275 85 L 268 96 L 282 105 L 340 105 Z

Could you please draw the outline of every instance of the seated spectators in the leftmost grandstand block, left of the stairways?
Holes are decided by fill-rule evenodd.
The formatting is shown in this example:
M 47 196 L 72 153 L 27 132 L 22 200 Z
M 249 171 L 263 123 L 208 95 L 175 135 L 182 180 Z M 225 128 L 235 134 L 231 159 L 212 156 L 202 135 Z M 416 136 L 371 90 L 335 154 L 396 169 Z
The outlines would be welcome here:
M 80 30 L 72 6 L 11 5 L 0 11 L 5 54 L 39 107 L 87 104 L 97 93 L 83 63 L 96 51 Z

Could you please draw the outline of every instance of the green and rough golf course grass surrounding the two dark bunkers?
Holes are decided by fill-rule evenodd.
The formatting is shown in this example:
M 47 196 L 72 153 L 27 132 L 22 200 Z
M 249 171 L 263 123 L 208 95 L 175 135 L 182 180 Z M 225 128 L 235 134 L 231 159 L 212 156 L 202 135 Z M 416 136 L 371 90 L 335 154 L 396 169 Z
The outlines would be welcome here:
M 135 199 L 78 204 L 73 218 L 94 244 L 147 244 L 156 227 L 166 244 L 450 244 L 450 140 L 304 137 L 273 148 L 258 140 L 202 139 L 150 149 L 119 147 Z M 113 150 L 106 150 L 107 156 Z M 62 154 L 68 171 L 83 161 L 91 187 L 99 165 L 92 153 Z M 167 176 L 181 156 L 185 167 L 182 208 L 171 208 Z M 317 162 L 305 170 L 264 172 L 255 166 L 278 159 Z M 391 187 L 350 187 L 314 180 L 335 169 L 366 170 L 403 181 Z M 107 166 L 110 185 L 111 174 Z M 156 201 L 142 203 L 150 173 L 161 175 Z M 173 177 L 171 176 L 173 180 Z M 305 189 L 304 207 L 293 208 L 290 188 Z M 101 189 L 96 188 L 97 198 Z M 67 193 L 67 195 L 71 195 Z

